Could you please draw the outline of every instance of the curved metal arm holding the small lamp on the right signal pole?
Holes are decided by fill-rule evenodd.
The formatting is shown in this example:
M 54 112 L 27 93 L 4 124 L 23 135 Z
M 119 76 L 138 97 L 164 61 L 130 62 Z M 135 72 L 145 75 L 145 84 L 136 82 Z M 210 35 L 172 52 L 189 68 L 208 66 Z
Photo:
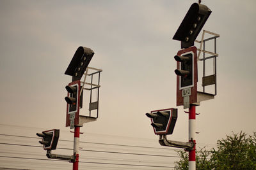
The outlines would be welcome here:
M 161 146 L 171 146 L 175 148 L 184 148 L 186 150 L 193 150 L 195 143 L 193 140 L 189 142 L 171 141 L 166 138 L 166 135 L 159 136 L 159 143 Z

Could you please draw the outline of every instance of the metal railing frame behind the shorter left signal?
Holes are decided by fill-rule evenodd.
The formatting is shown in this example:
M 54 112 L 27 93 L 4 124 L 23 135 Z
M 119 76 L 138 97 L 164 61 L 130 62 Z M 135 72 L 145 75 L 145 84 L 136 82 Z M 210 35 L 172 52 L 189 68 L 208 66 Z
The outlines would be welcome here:
M 93 70 L 93 73 L 88 74 L 88 70 L 91 69 Z M 92 118 L 98 118 L 99 117 L 99 92 L 100 92 L 100 73 L 102 72 L 102 69 L 97 69 L 93 67 L 87 67 L 86 71 L 84 73 L 84 81 L 81 81 L 82 84 L 82 89 L 84 90 L 89 90 L 90 91 L 90 103 L 89 103 L 89 117 L 92 117 L 92 110 L 97 109 L 97 117 L 92 117 Z M 99 74 L 99 79 L 97 84 L 93 84 L 93 75 Z M 86 82 L 87 76 L 91 76 L 91 82 L 88 83 Z M 84 85 L 90 85 L 90 88 L 84 87 Z M 92 103 L 92 92 L 94 89 L 97 89 L 97 101 Z M 83 90 L 81 90 L 81 93 Z M 81 95 L 80 93 L 80 95 Z M 95 106 L 96 105 L 96 106 Z M 92 107 L 95 107 L 95 109 L 92 109 Z

